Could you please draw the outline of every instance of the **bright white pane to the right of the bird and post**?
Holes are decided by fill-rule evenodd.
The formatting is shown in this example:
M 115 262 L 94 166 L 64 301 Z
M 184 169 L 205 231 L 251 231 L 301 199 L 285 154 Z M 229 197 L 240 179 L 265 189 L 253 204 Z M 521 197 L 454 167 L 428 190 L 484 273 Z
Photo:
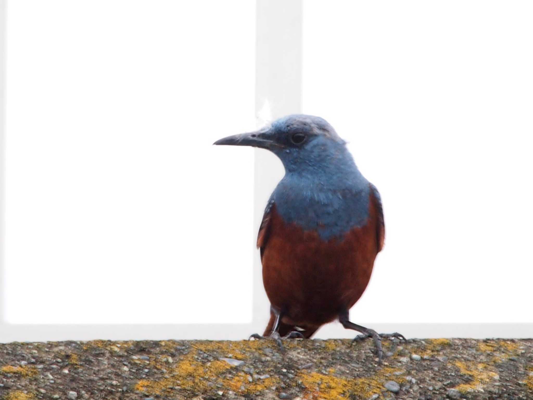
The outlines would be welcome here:
M 352 318 L 533 322 L 532 18 L 531 2 L 304 2 L 303 111 L 350 142 L 385 213 Z

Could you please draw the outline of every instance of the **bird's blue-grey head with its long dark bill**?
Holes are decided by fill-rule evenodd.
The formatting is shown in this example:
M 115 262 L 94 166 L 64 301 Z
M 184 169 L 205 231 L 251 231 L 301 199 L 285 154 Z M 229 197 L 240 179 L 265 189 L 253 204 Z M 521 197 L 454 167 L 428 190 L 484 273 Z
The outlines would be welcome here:
M 214 145 L 252 146 L 276 154 L 288 172 L 324 169 L 353 160 L 333 126 L 320 117 L 294 114 L 282 117 L 259 131 L 217 140 Z

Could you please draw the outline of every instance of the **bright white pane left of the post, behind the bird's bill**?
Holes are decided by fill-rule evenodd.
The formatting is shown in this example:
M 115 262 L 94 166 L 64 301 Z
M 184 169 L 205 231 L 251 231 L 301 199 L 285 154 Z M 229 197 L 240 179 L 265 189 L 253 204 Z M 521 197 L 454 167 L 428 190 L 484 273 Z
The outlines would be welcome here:
M 254 2 L 7 15 L 6 320 L 249 322 Z

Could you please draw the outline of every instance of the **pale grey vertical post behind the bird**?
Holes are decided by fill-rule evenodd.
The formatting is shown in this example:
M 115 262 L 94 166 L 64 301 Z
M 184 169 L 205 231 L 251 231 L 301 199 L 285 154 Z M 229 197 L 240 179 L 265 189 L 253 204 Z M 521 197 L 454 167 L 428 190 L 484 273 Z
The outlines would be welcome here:
M 302 111 L 302 1 L 257 0 L 255 110 L 259 119 Z M 255 150 L 254 226 L 259 229 L 270 193 L 283 177 L 276 156 Z M 253 325 L 263 330 L 269 318 L 261 261 L 254 263 Z M 259 332 L 262 333 L 262 332 Z

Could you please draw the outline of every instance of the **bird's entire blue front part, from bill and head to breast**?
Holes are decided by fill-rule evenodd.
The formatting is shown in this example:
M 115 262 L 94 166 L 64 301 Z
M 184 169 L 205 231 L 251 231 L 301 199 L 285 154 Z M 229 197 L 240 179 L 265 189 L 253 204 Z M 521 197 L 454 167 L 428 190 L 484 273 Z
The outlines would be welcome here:
M 368 218 L 369 183 L 325 119 L 294 114 L 255 132 L 220 139 L 215 145 L 253 146 L 276 154 L 285 177 L 272 193 L 281 217 L 323 239 L 341 237 Z

